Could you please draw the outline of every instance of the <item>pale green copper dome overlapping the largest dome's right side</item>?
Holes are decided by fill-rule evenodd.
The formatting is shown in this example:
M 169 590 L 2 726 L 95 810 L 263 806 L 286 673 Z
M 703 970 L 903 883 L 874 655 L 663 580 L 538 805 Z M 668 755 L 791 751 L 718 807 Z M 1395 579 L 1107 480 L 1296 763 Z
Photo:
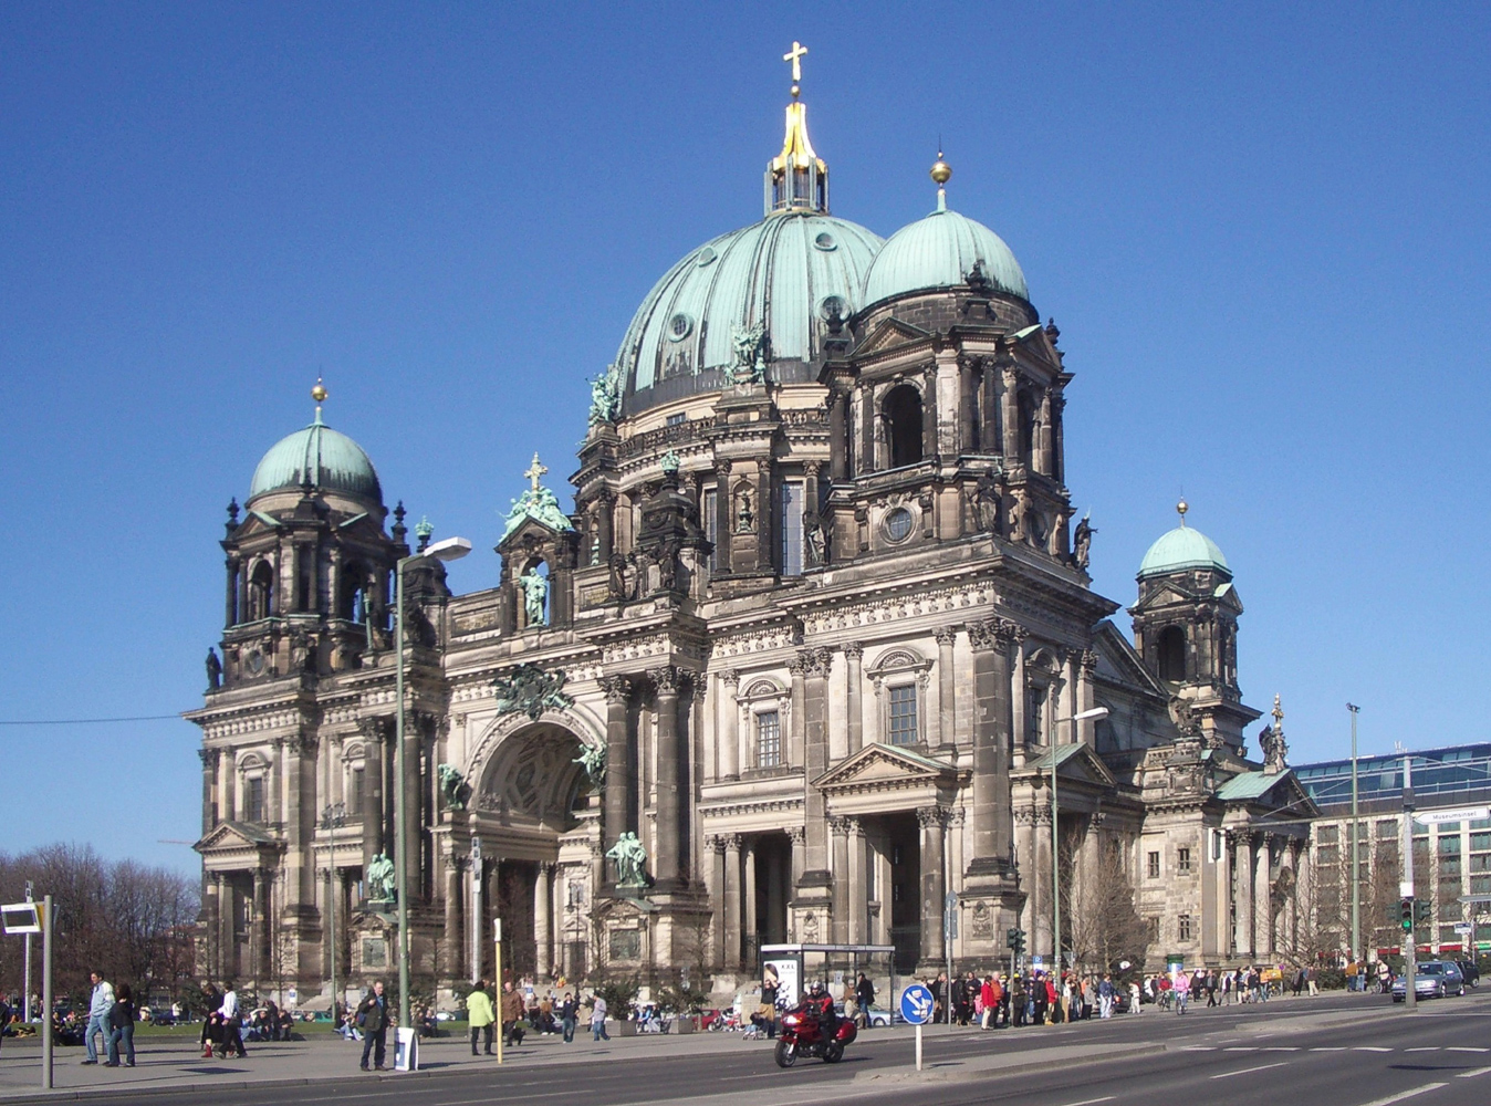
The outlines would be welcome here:
M 933 288 L 954 288 L 968 280 L 977 262 L 996 289 L 1030 298 L 1020 262 L 1003 238 L 965 215 L 932 212 L 890 236 L 869 267 L 865 303 Z

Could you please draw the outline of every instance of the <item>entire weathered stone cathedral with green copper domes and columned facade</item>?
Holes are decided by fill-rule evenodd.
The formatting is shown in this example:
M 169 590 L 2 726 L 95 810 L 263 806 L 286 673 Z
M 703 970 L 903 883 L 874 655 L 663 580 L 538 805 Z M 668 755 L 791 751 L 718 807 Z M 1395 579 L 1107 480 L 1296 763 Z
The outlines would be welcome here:
M 1245 756 L 1232 571 L 1182 517 L 1133 642 L 1111 622 L 1059 331 L 950 174 L 886 240 L 830 215 L 793 86 L 763 218 L 684 255 L 595 380 L 573 510 L 535 458 L 489 587 L 406 568 L 403 778 L 392 578 L 428 529 L 319 405 L 264 456 L 189 714 L 207 973 L 306 1003 L 332 955 L 389 972 L 400 789 L 426 991 L 491 975 L 495 917 L 538 978 L 723 988 L 781 941 L 983 964 L 1011 927 L 1050 957 L 1053 762 L 1062 879 L 1117 865 L 1151 958 L 1287 944 L 1309 800 L 1278 718 Z

